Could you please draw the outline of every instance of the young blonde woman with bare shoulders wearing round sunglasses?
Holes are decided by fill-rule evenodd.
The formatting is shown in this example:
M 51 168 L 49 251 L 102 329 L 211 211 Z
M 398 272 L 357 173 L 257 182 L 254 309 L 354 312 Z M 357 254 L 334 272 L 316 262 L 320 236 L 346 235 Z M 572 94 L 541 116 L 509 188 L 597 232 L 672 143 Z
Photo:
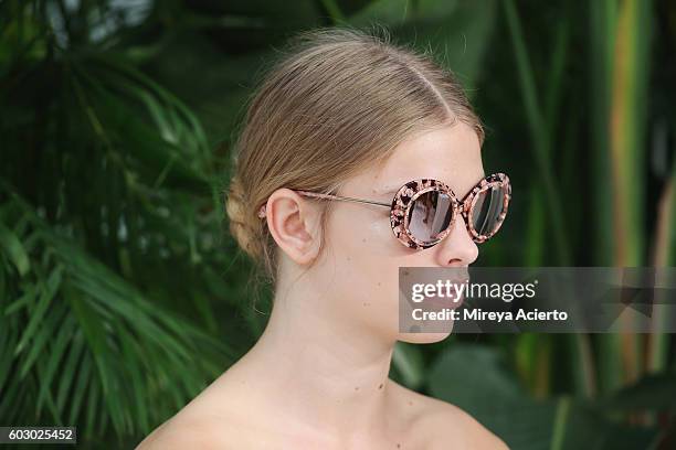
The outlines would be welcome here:
M 450 332 L 399 332 L 398 268 L 466 267 L 504 219 L 483 139 L 427 55 L 387 33 L 296 36 L 252 98 L 228 193 L 231 232 L 274 286 L 268 324 L 138 448 L 505 449 L 388 378 L 397 341 Z

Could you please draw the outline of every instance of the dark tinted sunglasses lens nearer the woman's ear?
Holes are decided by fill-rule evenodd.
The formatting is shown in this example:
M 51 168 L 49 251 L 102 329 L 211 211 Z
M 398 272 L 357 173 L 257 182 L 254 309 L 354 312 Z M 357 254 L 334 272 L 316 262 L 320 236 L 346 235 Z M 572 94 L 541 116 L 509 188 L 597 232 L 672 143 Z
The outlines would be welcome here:
M 409 231 L 419 240 L 431 242 L 448 227 L 453 203 L 448 194 L 430 191 L 413 201 L 409 213 Z

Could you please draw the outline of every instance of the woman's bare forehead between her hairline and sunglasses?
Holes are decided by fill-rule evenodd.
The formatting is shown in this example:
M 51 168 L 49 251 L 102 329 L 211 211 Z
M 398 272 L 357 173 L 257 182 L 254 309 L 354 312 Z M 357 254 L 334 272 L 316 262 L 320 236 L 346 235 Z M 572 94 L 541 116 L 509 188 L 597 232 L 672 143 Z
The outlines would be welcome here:
M 458 197 L 485 176 L 476 132 L 463 122 L 412 137 L 371 172 L 371 191 L 394 193 L 411 180 L 431 178 L 446 183 Z

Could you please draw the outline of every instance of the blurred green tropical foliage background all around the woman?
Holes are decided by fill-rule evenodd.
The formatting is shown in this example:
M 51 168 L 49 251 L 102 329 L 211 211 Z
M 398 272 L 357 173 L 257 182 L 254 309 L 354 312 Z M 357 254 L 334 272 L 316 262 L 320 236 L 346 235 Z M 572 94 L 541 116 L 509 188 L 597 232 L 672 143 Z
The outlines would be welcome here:
M 486 266 L 674 266 L 676 3 L 0 1 L 0 426 L 131 448 L 246 352 L 231 143 L 286 38 L 388 28 L 487 128 L 510 216 Z M 514 449 L 676 448 L 673 335 L 453 335 L 392 377 Z

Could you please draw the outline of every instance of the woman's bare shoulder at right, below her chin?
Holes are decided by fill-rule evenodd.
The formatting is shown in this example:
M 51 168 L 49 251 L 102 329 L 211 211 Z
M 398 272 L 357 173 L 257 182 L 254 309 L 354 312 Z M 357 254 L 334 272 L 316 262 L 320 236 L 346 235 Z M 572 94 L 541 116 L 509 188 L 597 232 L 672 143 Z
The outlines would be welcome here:
M 421 436 L 431 437 L 425 448 L 447 449 L 452 443 L 457 448 L 476 450 L 506 450 L 507 444 L 484 427 L 469 414 L 450 403 L 427 397 L 394 382 L 393 390 L 412 409 L 412 427 Z

